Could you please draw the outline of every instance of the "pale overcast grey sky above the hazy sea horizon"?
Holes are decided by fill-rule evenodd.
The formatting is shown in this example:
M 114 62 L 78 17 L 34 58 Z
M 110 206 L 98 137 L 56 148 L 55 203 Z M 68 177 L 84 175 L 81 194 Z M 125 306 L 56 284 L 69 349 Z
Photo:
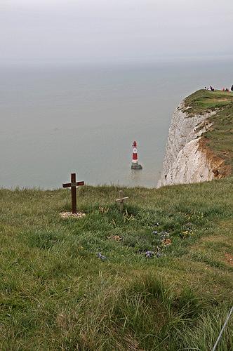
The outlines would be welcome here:
M 0 62 L 233 57 L 233 0 L 0 0 Z

